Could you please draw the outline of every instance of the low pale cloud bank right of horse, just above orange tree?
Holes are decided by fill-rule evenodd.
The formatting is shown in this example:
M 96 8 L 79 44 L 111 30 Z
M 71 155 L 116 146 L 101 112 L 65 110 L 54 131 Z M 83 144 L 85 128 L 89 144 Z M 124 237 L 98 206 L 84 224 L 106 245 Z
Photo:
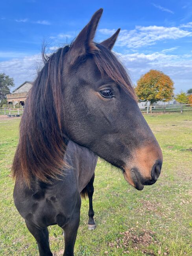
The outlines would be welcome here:
M 192 54 L 174 55 L 164 52 L 153 54 L 118 54 L 127 67 L 134 83 L 150 69 L 163 71 L 175 83 L 175 91 L 186 91 L 191 87 L 192 81 Z

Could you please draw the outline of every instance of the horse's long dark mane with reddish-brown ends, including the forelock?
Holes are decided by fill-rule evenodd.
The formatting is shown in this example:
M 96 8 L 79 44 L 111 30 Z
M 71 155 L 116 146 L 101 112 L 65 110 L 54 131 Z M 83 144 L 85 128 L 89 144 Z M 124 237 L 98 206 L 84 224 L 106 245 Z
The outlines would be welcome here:
M 101 74 L 107 74 L 135 99 L 134 89 L 122 64 L 105 46 L 96 46 L 98 52 L 92 56 Z M 44 67 L 28 94 L 12 167 L 13 178 L 25 180 L 28 186 L 34 177 L 50 183 L 50 180 L 63 175 L 63 169 L 67 167 L 64 161 L 65 134 L 61 125 L 64 116 L 61 83 L 64 57 L 69 49 L 70 46 L 59 48 L 49 57 L 43 51 Z

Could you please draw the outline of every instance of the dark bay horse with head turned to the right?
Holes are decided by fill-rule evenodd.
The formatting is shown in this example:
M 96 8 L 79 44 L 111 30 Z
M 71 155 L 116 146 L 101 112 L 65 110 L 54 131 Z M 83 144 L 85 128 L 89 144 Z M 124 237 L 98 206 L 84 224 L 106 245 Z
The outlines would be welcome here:
M 124 67 L 111 52 L 114 35 L 94 43 L 98 10 L 70 45 L 46 58 L 28 96 L 13 161 L 14 202 L 39 254 L 52 255 L 49 225 L 74 255 L 81 194 L 89 196 L 89 228 L 97 156 L 122 169 L 136 189 L 156 182 L 162 152 L 142 116 Z

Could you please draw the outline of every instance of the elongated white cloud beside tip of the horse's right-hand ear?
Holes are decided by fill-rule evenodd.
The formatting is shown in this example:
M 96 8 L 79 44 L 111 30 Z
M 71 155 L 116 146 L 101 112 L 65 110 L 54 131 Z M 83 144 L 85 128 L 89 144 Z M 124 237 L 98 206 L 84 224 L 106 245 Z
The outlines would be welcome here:
M 100 29 L 105 35 L 112 35 L 115 30 Z M 155 45 L 157 41 L 179 39 L 192 36 L 192 32 L 177 27 L 163 26 L 136 26 L 134 30 L 121 30 L 117 39 L 117 46 L 139 48 L 146 45 Z

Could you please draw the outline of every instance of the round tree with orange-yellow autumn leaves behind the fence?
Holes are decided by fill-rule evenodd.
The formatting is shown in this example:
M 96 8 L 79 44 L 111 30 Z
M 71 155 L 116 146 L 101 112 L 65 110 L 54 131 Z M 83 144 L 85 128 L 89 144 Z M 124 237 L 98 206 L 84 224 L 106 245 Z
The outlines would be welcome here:
M 172 99 L 174 82 L 162 71 L 151 69 L 137 81 L 135 91 L 140 100 L 149 100 L 151 104 L 159 100 L 169 101 Z

